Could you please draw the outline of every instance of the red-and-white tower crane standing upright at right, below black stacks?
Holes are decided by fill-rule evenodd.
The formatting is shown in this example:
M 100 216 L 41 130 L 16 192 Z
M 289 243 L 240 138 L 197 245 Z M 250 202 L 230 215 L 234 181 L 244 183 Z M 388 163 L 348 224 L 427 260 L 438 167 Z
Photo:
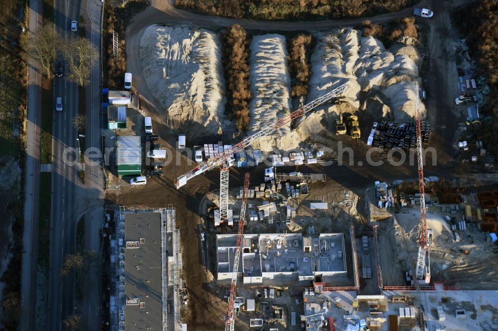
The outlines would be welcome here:
M 422 131 L 420 124 L 420 100 L 418 82 L 415 82 L 415 131 L 417 134 L 418 187 L 420 192 L 420 238 L 418 240 L 417 280 L 431 281 L 429 243 L 427 238 L 427 216 L 425 207 L 424 165 L 422 154 Z

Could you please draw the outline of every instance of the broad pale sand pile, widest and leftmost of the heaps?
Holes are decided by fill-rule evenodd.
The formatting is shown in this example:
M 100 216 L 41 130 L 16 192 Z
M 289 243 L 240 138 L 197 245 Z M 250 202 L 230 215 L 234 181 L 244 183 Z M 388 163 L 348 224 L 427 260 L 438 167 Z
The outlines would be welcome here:
M 164 105 L 164 120 L 190 135 L 222 132 L 225 81 L 217 34 L 187 26 L 149 26 L 140 62 L 150 91 Z

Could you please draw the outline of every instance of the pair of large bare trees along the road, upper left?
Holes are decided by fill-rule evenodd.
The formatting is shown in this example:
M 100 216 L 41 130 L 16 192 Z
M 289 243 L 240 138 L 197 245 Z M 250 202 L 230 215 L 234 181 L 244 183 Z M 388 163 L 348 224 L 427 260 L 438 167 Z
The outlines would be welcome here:
M 66 79 L 80 86 L 90 83 L 90 70 L 99 55 L 87 38 L 65 41 L 50 24 L 30 35 L 28 49 L 29 55 L 40 63 L 48 79 L 53 77 L 55 62 L 62 54 L 68 68 Z

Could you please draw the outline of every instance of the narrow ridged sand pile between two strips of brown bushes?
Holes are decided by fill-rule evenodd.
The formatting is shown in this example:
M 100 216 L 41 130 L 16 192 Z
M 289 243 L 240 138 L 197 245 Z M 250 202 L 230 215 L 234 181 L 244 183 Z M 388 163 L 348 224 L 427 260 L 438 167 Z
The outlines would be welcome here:
M 248 135 L 260 131 L 290 112 L 287 55 L 285 37 L 281 35 L 266 34 L 252 38 L 249 56 L 252 99 L 249 104 L 251 120 Z M 280 133 L 274 137 L 262 139 L 259 142 L 260 148 L 268 150 L 275 144 L 277 148 L 286 148 L 279 146 L 281 140 L 277 137 L 288 132 L 287 126 L 280 129 Z

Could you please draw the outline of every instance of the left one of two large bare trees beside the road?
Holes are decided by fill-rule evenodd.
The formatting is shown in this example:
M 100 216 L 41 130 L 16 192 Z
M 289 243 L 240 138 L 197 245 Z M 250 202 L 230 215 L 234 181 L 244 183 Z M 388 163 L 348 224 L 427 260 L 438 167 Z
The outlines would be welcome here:
M 52 24 L 44 25 L 40 31 L 29 37 L 29 55 L 40 63 L 47 78 L 52 77 L 55 56 L 62 45 L 61 37 L 55 32 Z

